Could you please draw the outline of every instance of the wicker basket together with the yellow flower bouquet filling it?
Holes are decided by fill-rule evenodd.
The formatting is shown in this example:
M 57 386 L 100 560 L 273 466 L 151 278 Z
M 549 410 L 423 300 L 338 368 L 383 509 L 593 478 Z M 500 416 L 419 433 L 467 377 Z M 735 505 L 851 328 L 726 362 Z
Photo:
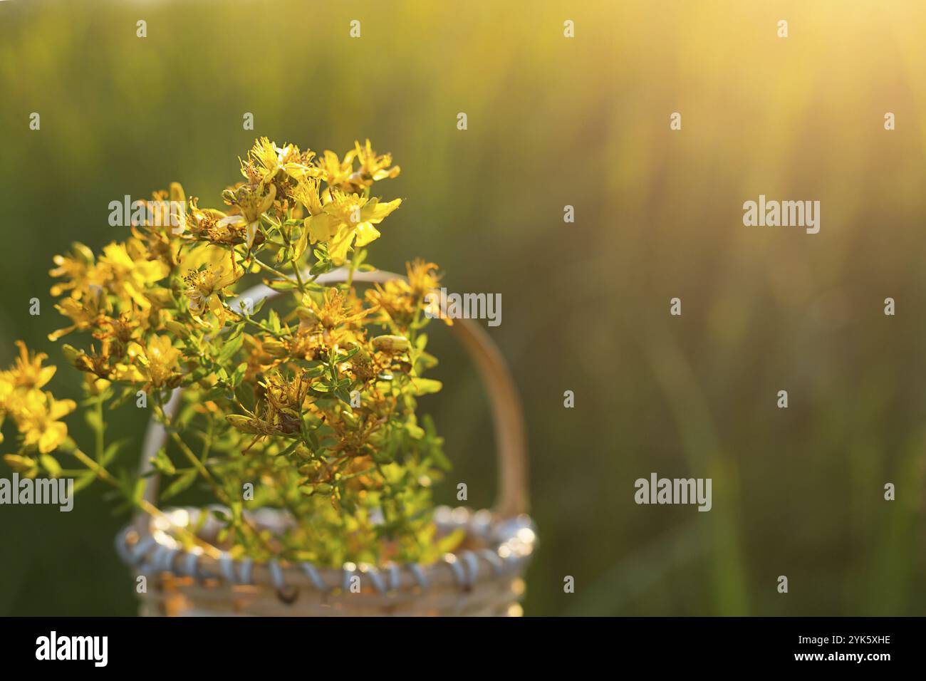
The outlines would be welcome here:
M 440 275 L 367 260 L 401 204 L 373 187 L 398 173 L 369 140 L 340 157 L 262 138 L 222 208 L 173 183 L 113 202 L 124 241 L 56 257 L 69 322 L 50 340 L 81 339 L 62 350 L 94 441 L 69 436 L 76 402 L 44 390 L 55 367 L 20 345 L 0 373 L 0 424 L 19 434 L 5 459 L 26 479 L 118 492 L 144 614 L 519 612 L 534 534 L 518 397 L 482 328 L 453 324 L 493 402 L 500 501 L 435 509 L 450 464 L 419 397 L 442 387 L 425 375 Z M 137 470 L 106 437 L 127 409 L 151 414 Z

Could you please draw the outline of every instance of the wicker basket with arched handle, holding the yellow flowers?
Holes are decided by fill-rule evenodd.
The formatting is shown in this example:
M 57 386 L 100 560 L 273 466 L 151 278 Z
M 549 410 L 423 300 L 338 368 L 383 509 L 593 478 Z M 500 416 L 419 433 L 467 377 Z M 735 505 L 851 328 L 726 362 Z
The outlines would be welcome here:
M 332 271 L 320 284 L 343 281 Z M 357 272 L 358 283 L 382 283 L 399 275 Z M 277 292 L 257 286 L 241 298 L 257 301 Z M 494 511 L 440 507 L 434 512 L 438 533 L 463 528 L 457 552 L 430 565 L 346 563 L 341 569 L 307 562 L 232 560 L 221 551 L 184 550 L 172 529 L 195 523 L 196 509 L 169 509 L 160 517 L 144 515 L 126 527 L 116 546 L 123 561 L 146 587 L 140 593 L 142 615 L 519 615 L 524 591 L 521 578 L 535 543 L 527 511 L 527 457 L 520 402 L 505 360 L 482 327 L 457 320 L 457 332 L 476 362 L 493 408 L 499 462 L 498 500 Z M 180 406 L 180 393 L 169 401 L 169 414 Z M 152 421 L 145 433 L 142 471 L 166 438 Z M 156 503 L 157 475 L 147 478 L 144 497 Z M 260 509 L 249 520 L 258 527 L 280 528 L 281 511 Z M 207 542 L 219 523 L 206 518 L 199 535 Z M 359 582 L 355 579 L 359 577 Z M 359 584 L 359 590 L 357 590 Z M 351 588 L 353 586 L 353 588 Z

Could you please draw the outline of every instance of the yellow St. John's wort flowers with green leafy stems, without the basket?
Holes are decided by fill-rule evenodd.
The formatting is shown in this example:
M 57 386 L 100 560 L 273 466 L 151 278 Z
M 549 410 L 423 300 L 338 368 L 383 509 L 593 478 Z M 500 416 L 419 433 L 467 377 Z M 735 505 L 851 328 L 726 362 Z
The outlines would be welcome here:
M 56 474 L 55 457 L 73 455 L 90 478 L 137 502 L 128 461 L 114 468 L 123 459 L 105 441 L 104 406 L 145 406 L 169 433 L 152 460 L 168 479 L 161 500 L 205 490 L 223 509 L 219 541 L 232 555 L 433 560 L 450 540 L 434 536 L 430 487 L 448 464 L 417 410 L 441 387 L 422 376 L 436 363 L 423 329 L 437 267 L 415 261 L 407 281 L 354 284 L 357 271 L 372 270 L 365 246 L 401 203 L 372 189 L 399 168 L 369 140 L 340 157 L 262 138 L 240 164 L 243 180 L 222 192 L 221 209 L 173 183 L 144 211 L 181 207 L 166 224 L 136 221 L 98 255 L 75 244 L 56 256 L 52 294 L 68 323 L 50 339 L 81 339 L 63 351 L 85 377 L 95 456 L 59 421 L 74 402 L 41 390 L 54 367 L 20 346 L 0 374 L 0 419 L 10 415 L 21 434 L 7 460 Z M 344 284 L 318 283 L 335 268 Z M 232 302 L 259 281 L 281 295 Z M 180 408 L 169 411 L 177 389 Z M 257 507 L 290 521 L 254 527 L 244 510 Z

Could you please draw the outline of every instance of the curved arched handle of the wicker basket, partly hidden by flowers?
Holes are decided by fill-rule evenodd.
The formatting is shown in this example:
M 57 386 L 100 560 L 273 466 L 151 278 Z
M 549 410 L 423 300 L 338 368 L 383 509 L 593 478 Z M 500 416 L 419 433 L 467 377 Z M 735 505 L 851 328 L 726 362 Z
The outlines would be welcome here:
M 326 272 L 316 279 L 317 284 L 334 284 L 344 282 L 348 275 L 344 268 Z M 357 271 L 354 281 L 364 284 L 383 284 L 405 277 L 388 271 Z M 280 295 L 269 286 L 258 284 L 248 289 L 238 298 L 251 298 L 255 302 L 263 298 Z M 442 310 L 445 312 L 446 310 Z M 528 465 L 524 420 L 521 413 L 520 399 L 505 359 L 492 338 L 477 322 L 469 319 L 454 320 L 452 327 L 467 350 L 470 359 L 476 363 L 482 377 L 482 383 L 488 392 L 492 407 L 495 433 L 495 454 L 498 459 L 498 492 L 495 499 L 495 512 L 500 518 L 514 518 L 528 511 Z M 172 418 L 180 407 L 181 389 L 176 388 L 165 405 L 164 411 Z M 157 450 L 167 441 L 164 426 L 152 419 L 148 422 L 142 446 L 140 473 L 152 473 L 154 467 L 151 459 Z M 144 498 L 156 503 L 159 473 L 154 471 L 145 480 Z

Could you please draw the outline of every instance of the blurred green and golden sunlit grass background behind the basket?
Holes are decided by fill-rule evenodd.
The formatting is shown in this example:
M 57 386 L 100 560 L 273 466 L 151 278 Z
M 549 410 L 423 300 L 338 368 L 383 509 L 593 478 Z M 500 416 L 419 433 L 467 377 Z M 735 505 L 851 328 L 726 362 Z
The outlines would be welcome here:
M 527 614 L 922 614 L 924 34 L 913 0 L 0 3 L 0 364 L 19 338 L 62 363 L 47 271 L 123 238 L 109 201 L 176 180 L 219 206 L 256 135 L 369 137 L 405 198 L 370 259 L 502 294 L 542 541 Z M 759 194 L 820 200 L 820 233 L 744 227 Z M 433 335 L 439 498 L 485 506 L 490 414 Z M 78 395 L 67 369 L 53 387 Z M 635 505 L 652 471 L 712 477 L 713 510 Z M 135 612 L 110 509 L 0 508 L 0 614 Z

